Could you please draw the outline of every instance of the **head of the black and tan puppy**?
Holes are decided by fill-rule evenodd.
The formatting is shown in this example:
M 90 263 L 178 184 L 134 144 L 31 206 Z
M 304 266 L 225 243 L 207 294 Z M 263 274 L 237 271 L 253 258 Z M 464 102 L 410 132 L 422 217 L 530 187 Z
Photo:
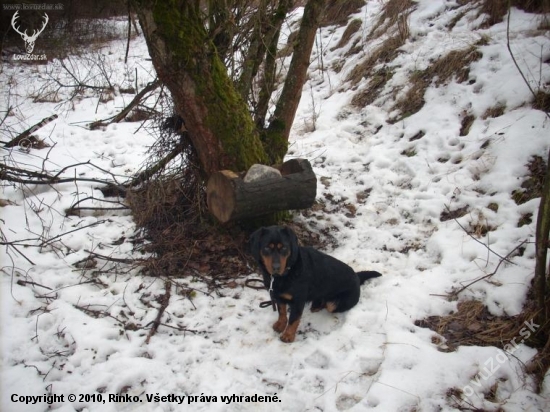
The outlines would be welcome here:
M 262 227 L 250 237 L 250 249 L 267 273 L 282 276 L 298 257 L 298 239 L 288 227 Z

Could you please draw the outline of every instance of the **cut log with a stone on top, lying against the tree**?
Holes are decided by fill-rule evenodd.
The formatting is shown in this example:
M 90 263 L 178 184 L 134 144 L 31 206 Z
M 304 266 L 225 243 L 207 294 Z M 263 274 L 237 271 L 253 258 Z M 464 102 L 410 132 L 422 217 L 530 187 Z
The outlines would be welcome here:
M 230 170 L 212 174 L 206 187 L 210 213 L 226 223 L 311 207 L 317 194 L 317 178 L 311 164 L 306 159 L 292 159 L 273 167 L 281 172 L 281 177 L 248 183 L 242 174 Z

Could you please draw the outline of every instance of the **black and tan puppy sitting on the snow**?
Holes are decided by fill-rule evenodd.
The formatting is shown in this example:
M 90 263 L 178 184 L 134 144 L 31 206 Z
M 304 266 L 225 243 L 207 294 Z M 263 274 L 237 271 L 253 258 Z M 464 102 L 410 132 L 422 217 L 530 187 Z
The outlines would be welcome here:
M 273 329 L 282 333 L 283 342 L 294 341 L 306 302 L 311 302 L 312 312 L 324 308 L 344 312 L 359 301 L 363 282 L 381 276 L 373 271 L 355 273 L 336 258 L 298 246 L 296 234 L 288 227 L 258 229 L 250 238 L 250 248 L 265 287 L 277 304 L 279 318 Z

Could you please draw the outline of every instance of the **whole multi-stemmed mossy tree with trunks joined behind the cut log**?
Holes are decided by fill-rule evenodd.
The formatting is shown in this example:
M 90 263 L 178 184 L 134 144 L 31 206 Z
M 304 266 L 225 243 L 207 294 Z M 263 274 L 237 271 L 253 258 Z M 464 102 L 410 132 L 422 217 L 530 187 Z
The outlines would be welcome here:
M 228 16 L 231 16 L 230 7 L 238 7 L 238 4 L 214 0 L 206 3 L 199 0 L 133 2 L 157 75 L 170 91 L 176 113 L 185 122 L 204 177 L 218 170 L 247 170 L 254 163 L 280 163 L 288 150 L 290 128 L 300 102 L 325 0 L 306 3 L 282 96 L 267 130 L 263 124 L 257 127 L 254 123 L 241 95 L 246 86 L 240 84 L 237 88 L 233 84 L 217 49 L 226 50 L 232 45 L 233 26 Z M 205 9 L 205 4 L 210 9 Z M 254 47 L 249 50 L 259 59 L 265 59 L 267 46 L 273 48 L 279 31 L 277 25 L 291 4 L 291 0 L 279 0 L 270 18 L 274 27 L 259 31 L 266 38 L 255 50 Z M 213 14 L 205 16 L 208 11 Z M 273 57 L 275 51 L 272 49 L 270 53 Z M 268 77 L 272 76 L 274 67 L 272 61 L 269 63 Z M 243 82 L 245 79 L 252 82 L 258 67 L 258 62 L 252 62 L 250 75 L 245 74 Z M 268 82 L 271 81 L 268 78 Z M 265 92 L 268 94 L 269 88 Z M 269 101 L 269 96 L 267 99 Z M 263 116 L 265 118 L 265 114 Z

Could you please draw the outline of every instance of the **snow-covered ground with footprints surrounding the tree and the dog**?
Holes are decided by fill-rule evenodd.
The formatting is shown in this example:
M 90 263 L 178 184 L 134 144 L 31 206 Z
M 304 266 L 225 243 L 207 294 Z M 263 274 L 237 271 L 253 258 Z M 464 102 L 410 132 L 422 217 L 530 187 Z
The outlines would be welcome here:
M 384 275 L 363 286 L 359 304 L 345 314 L 306 312 L 296 341 L 285 344 L 271 329 L 275 315 L 258 307 L 265 291 L 239 284 L 219 297 L 193 280 L 198 292 L 190 299 L 174 287 L 162 320 L 187 331 L 160 326 L 147 344 L 144 327 L 157 315 L 164 281 L 136 270 L 105 271 L 101 261 L 93 269 L 74 266 L 89 251 L 136 257 L 129 241 L 118 241 L 134 233 L 131 215 L 65 216 L 78 199 L 102 198 L 94 183 L 3 182 L 2 241 L 16 242 L 16 248 L 3 245 L 0 252 L 2 411 L 550 410 L 549 379 L 536 394 L 524 371 L 534 349 L 519 344 L 513 354 L 472 346 L 441 351 L 435 332 L 415 326 L 415 320 L 455 311 L 457 302 L 443 295 L 495 271 L 501 260 L 496 254 L 505 256 L 525 241 L 513 264 L 500 265 L 491 278 L 460 294 L 461 300 L 481 300 L 495 315 L 522 310 L 534 271 L 535 219 L 521 227 L 518 222 L 536 216 L 539 200 L 518 206 L 511 193 L 528 174 L 531 157 L 546 157 L 550 122 L 528 103 L 532 97 L 506 47 L 506 22 L 480 29 L 482 17 L 469 12 L 449 31 L 464 9 L 445 0 L 418 1 L 408 19 L 409 39 L 384 63 L 393 77 L 373 104 L 352 107 L 356 91 L 345 79 L 383 40 L 366 39 L 381 7 L 369 1 L 353 16 L 363 28 L 346 47 L 334 49 L 344 27 L 321 31 L 288 154 L 311 161 L 322 205 L 296 219 L 311 230 L 330 231 L 335 257 Z M 509 33 L 533 88 L 550 82 L 550 38 L 538 30 L 539 21 L 513 9 Z M 346 55 L 356 39 L 362 51 Z M 482 57 L 471 64 L 468 81 L 432 84 L 419 112 L 390 122 L 412 73 L 474 44 Z M 154 77 L 143 39 L 133 41 L 126 66 L 124 51 L 123 40 L 103 50 L 111 80 L 133 85 L 138 73 L 141 89 Z M 74 59 L 75 67 L 84 76 L 90 66 L 79 61 Z M 140 123 L 83 127 L 117 114 L 133 96 L 67 103 L 62 93 L 60 101 L 34 102 L 50 65 L 2 66 L 2 116 L 11 108 L 4 126 L 22 131 L 59 115 L 36 132 L 52 147 L 0 149 L 2 163 L 54 174 L 93 164 L 66 170 L 69 177 L 110 178 L 109 171 L 124 180 L 135 173 L 153 143 L 143 128 L 136 132 Z M 359 88 L 367 82 L 368 76 Z M 503 114 L 483 119 L 496 105 L 505 107 Z M 465 115 L 475 120 L 460 136 Z M 468 212 L 458 222 L 440 220 L 447 208 L 463 207 Z M 476 241 L 459 223 L 491 230 Z M 451 396 L 459 392 L 462 400 Z M 51 405 L 37 398 L 50 394 L 63 398 Z M 116 394 L 125 397 L 114 399 Z

